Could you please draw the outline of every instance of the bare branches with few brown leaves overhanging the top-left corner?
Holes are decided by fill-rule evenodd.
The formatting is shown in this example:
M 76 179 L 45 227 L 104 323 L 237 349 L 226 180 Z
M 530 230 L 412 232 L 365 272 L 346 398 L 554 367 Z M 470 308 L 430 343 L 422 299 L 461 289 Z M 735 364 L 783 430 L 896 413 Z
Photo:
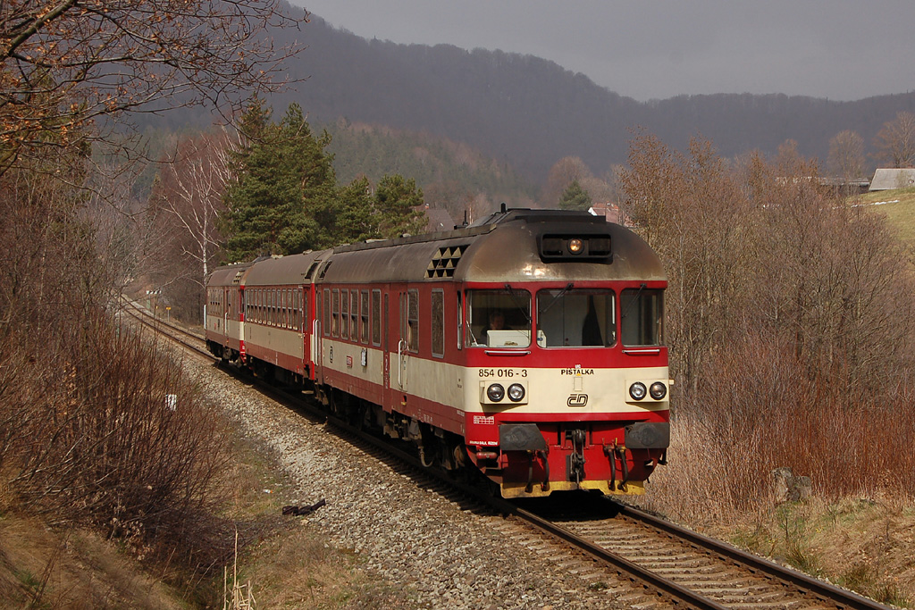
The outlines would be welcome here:
M 265 29 L 280 0 L 6 0 L 0 3 L 0 173 L 48 145 L 81 147 L 125 111 L 231 110 L 276 86 Z

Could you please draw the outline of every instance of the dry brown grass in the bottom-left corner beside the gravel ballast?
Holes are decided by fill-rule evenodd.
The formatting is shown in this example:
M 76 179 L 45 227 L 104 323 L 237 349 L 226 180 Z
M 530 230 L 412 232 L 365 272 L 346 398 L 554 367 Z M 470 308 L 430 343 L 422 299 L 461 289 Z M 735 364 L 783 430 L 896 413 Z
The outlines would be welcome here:
M 235 610 L 252 599 L 255 608 L 413 607 L 407 594 L 362 572 L 357 555 L 321 540 L 306 519 L 281 515 L 297 498 L 264 444 L 239 434 L 232 449 L 217 487 L 221 518 L 237 523 L 240 549 L 225 572 L 203 581 L 175 566 L 137 561 L 123 542 L 90 530 L 48 529 L 41 519 L 17 515 L 0 488 L 0 607 Z M 227 605 L 233 581 L 243 589 L 238 603 Z

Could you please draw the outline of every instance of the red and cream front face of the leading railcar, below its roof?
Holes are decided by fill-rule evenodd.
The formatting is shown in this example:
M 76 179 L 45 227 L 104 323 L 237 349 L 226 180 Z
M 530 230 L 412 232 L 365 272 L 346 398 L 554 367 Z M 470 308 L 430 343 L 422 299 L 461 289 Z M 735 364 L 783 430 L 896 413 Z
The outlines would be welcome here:
M 465 292 L 468 455 L 503 497 L 644 492 L 670 436 L 665 285 Z

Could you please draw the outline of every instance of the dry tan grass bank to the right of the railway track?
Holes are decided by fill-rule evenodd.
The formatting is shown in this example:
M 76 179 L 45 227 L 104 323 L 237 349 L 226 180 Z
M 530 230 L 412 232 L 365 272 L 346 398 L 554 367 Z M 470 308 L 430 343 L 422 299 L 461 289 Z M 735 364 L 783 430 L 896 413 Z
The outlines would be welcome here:
M 822 421 L 827 413 L 809 415 L 808 423 Z M 771 454 L 760 448 L 776 434 L 789 441 L 792 430 L 809 430 L 799 425 L 799 416 L 795 412 L 785 419 L 791 426 L 782 423 L 760 429 L 754 440 L 743 445 L 724 443 L 720 438 L 709 441 L 716 437 L 709 435 L 713 428 L 708 422 L 679 419 L 672 427 L 670 465 L 652 477 L 640 505 L 879 602 L 915 607 L 915 500 L 910 493 L 898 482 L 891 484 L 880 476 L 849 477 L 841 494 L 823 490 L 823 473 L 830 469 L 845 473 L 852 467 L 843 462 L 856 453 L 853 437 L 846 437 L 852 440 L 842 444 L 813 439 L 808 447 L 819 447 L 822 457 L 817 459 L 824 460 L 813 476 L 813 498 L 778 502 L 768 470 Z M 848 413 L 835 419 L 849 427 L 860 423 Z M 884 433 L 899 433 L 899 440 L 910 433 L 906 432 L 910 424 L 900 426 L 891 418 L 879 420 L 879 424 Z M 867 432 L 867 426 L 864 428 Z M 829 452 L 835 452 L 833 460 Z M 860 457 L 865 464 L 855 466 L 857 471 L 868 472 L 866 464 L 874 463 L 868 460 L 881 453 L 906 464 L 905 458 L 911 454 L 904 447 L 896 451 L 875 447 L 863 452 Z M 792 456 L 783 457 L 782 464 L 793 464 Z M 746 496 L 748 490 L 752 497 Z

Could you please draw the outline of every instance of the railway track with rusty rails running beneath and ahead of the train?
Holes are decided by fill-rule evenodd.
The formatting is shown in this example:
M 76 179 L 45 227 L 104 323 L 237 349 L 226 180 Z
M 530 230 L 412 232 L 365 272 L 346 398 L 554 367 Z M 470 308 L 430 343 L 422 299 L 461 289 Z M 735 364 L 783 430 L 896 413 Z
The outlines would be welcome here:
M 124 312 L 145 326 L 166 334 L 210 359 L 202 337 L 153 318 L 143 307 L 126 305 Z M 265 385 L 278 400 L 312 415 L 326 416 L 302 392 Z M 761 608 L 886 610 L 860 595 L 824 583 L 727 543 L 680 528 L 664 519 L 610 498 L 581 493 L 569 502 L 554 497 L 525 502 L 492 498 L 479 487 L 461 483 L 447 473 L 422 466 L 413 454 L 383 439 L 328 417 L 328 423 L 379 459 L 396 459 L 414 469 L 446 498 L 481 516 L 510 516 L 504 528 L 514 540 L 542 552 L 548 561 L 572 562 L 576 573 L 639 608 Z M 574 508 L 570 510 L 570 505 Z M 540 540 L 538 540 L 540 539 Z M 569 560 L 570 554 L 575 559 Z M 605 583 L 616 583 L 607 585 Z

